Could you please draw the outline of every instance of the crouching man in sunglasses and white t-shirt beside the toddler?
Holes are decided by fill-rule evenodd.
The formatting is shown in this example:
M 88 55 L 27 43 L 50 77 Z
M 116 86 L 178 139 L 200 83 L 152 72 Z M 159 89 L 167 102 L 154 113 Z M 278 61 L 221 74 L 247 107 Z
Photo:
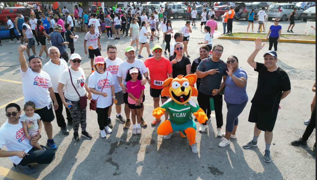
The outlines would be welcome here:
M 27 174 L 34 173 L 37 169 L 31 164 L 49 164 L 55 156 L 55 152 L 45 146 L 43 150 L 35 149 L 33 146 L 41 138 L 40 134 L 26 138 L 23 133 L 22 122 L 19 121 L 21 108 L 15 103 L 5 107 L 7 121 L 0 127 L 0 157 L 9 157 L 13 166 Z M 2 150 L 6 146 L 7 150 Z

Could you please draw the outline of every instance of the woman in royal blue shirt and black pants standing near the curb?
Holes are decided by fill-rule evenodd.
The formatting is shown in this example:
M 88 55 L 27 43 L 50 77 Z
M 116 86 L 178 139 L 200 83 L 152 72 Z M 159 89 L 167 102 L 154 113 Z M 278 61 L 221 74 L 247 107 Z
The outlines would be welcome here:
M 282 26 L 278 25 L 280 22 L 279 19 L 274 20 L 274 25 L 270 26 L 270 29 L 268 30 L 268 35 L 266 36 L 266 39 L 269 41 L 268 50 L 271 51 L 272 46 L 274 44 L 274 51 L 277 51 L 277 42 L 280 40 L 281 37 L 281 31 Z

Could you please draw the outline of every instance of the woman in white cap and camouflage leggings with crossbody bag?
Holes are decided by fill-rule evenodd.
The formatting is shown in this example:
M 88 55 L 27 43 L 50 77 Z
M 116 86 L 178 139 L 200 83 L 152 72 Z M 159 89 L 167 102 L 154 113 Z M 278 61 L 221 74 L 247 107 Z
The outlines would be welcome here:
M 91 139 L 92 136 L 86 131 L 86 102 L 84 98 L 88 92 L 88 99 L 91 99 L 91 93 L 86 84 L 86 77 L 84 70 L 80 67 L 81 57 L 74 53 L 70 56 L 70 67 L 61 73 L 57 85 L 57 91 L 66 108 L 69 109 L 73 117 L 74 141 L 79 141 L 78 129 L 81 124 L 81 136 Z M 63 88 L 65 87 L 65 93 Z M 65 95 L 65 96 L 64 96 Z M 85 106 L 86 104 L 86 106 Z

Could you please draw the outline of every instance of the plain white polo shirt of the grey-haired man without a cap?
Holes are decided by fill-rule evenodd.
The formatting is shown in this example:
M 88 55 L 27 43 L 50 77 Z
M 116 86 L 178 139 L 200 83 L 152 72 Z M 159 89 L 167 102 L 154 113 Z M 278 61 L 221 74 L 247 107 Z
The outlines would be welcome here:
M 52 81 L 52 86 L 54 93 L 58 93 L 57 91 L 57 85 L 59 81 L 59 77 L 61 73 L 68 68 L 67 62 L 64 59 L 59 59 L 60 60 L 60 65 L 58 66 L 57 64 L 52 63 L 52 60 L 50 59 L 49 62 L 47 62 L 43 66 L 43 71 L 49 74 L 49 77 L 51 78 Z M 63 88 L 63 92 L 65 91 L 65 88 Z

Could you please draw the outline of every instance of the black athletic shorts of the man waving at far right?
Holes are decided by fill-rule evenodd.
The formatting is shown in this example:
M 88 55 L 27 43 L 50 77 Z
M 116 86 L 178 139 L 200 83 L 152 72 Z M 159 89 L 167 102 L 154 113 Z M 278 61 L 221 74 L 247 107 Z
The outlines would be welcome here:
M 278 107 L 266 107 L 263 105 L 251 105 L 249 122 L 255 122 L 256 128 L 262 131 L 272 132 L 276 117 L 277 117 Z

